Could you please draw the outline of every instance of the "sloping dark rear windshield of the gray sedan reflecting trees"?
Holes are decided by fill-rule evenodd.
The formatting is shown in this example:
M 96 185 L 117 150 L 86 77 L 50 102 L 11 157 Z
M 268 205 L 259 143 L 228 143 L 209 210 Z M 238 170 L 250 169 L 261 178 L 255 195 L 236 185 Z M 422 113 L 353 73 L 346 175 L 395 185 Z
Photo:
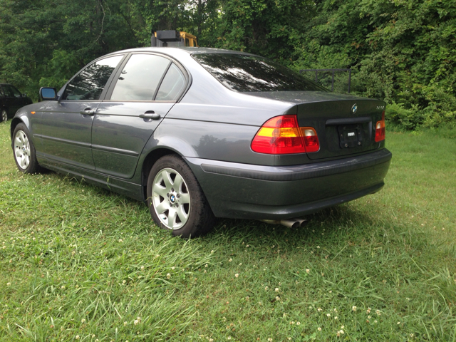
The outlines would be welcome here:
M 199 53 L 192 57 L 234 91 L 328 91 L 299 73 L 259 56 Z

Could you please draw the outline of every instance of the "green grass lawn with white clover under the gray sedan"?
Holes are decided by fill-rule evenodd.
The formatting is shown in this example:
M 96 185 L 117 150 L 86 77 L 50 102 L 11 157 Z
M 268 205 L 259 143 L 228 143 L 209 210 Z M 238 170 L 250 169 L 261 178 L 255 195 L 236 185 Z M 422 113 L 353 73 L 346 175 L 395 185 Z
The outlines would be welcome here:
M 145 204 L 18 172 L 9 123 L 0 341 L 456 341 L 454 132 L 388 133 L 384 189 L 304 228 L 224 219 L 184 241 Z

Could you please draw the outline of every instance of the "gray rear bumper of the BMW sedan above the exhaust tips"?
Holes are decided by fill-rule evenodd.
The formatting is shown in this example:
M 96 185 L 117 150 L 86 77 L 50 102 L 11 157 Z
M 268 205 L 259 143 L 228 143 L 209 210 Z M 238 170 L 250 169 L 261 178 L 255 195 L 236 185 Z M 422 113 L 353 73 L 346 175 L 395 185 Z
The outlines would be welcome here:
M 261 166 L 187 158 L 217 217 L 287 219 L 379 191 L 391 152 L 306 165 Z

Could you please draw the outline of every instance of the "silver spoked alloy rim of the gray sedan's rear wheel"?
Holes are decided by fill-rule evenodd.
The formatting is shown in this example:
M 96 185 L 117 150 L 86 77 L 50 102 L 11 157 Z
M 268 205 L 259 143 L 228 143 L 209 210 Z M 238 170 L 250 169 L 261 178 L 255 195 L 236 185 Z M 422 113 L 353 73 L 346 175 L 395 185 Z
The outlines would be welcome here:
M 157 172 L 152 184 L 152 205 L 168 229 L 182 228 L 190 215 L 190 193 L 182 175 L 170 167 Z

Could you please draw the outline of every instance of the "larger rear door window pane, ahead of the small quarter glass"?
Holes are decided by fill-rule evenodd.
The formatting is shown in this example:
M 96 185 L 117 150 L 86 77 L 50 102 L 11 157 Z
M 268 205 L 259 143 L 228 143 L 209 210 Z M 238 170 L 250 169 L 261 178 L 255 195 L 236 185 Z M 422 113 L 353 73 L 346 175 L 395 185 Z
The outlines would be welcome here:
M 162 76 L 170 63 L 169 59 L 156 55 L 131 56 L 120 73 L 110 99 L 153 100 Z

